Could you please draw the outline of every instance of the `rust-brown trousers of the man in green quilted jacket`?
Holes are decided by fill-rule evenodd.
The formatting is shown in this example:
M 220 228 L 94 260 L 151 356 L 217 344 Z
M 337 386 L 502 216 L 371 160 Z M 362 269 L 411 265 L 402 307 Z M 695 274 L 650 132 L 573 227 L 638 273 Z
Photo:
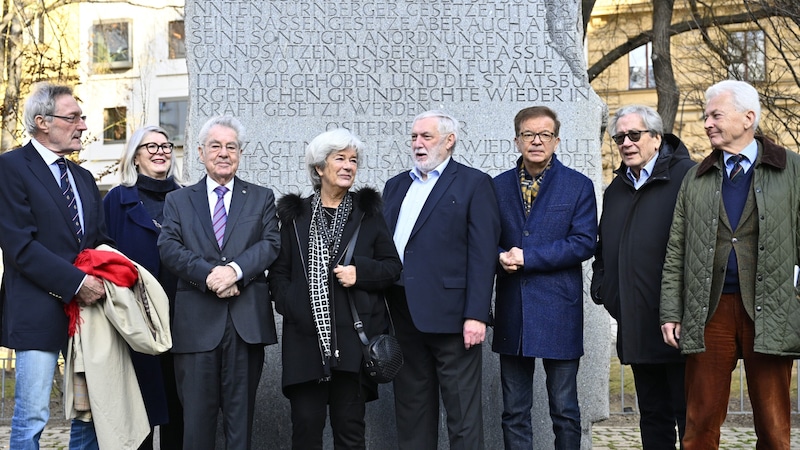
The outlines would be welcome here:
M 744 359 L 759 450 L 789 450 L 791 357 L 753 351 L 755 326 L 739 294 L 723 294 L 706 324 L 706 351 L 686 359 L 686 450 L 719 448 L 731 372 Z

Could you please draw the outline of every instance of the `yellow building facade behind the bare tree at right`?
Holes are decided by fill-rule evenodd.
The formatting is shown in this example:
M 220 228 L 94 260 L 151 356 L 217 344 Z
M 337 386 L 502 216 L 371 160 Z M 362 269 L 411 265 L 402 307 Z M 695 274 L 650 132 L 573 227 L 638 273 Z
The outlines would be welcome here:
M 703 128 L 704 93 L 728 78 L 753 84 L 762 95 L 760 132 L 794 151 L 800 149 L 800 8 L 777 8 L 781 0 L 718 0 L 692 9 L 676 0 L 671 19 L 672 67 L 679 90 L 672 132 L 695 160 L 710 152 Z M 772 15 L 767 14 L 767 7 Z M 779 13 L 778 15 L 775 15 Z M 781 15 L 782 14 L 782 15 Z M 761 17 L 758 20 L 754 18 Z M 587 28 L 589 67 L 618 46 L 653 28 L 652 0 L 598 0 Z M 684 31 L 689 30 L 689 31 Z M 631 103 L 656 107 L 652 43 L 632 48 L 608 66 L 592 87 L 613 113 Z M 603 146 L 604 179 L 619 166 L 616 146 Z

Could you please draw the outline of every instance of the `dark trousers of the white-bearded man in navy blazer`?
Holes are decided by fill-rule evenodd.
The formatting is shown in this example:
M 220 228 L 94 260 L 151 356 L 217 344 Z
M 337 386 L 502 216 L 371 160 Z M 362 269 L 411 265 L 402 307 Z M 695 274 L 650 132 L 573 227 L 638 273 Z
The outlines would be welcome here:
M 482 346 L 466 350 L 460 333 L 417 330 L 401 287 L 392 288 L 389 305 L 405 360 L 394 379 L 398 447 L 436 450 L 441 391 L 450 449 L 483 449 Z

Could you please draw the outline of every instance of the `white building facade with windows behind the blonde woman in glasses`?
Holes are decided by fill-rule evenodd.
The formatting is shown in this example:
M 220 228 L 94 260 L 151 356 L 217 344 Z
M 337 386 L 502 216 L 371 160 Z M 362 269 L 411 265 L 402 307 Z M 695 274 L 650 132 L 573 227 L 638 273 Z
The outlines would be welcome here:
M 80 153 L 101 191 L 119 181 L 117 162 L 128 137 L 160 125 L 179 153 L 188 108 L 183 2 L 81 3 L 80 84 L 88 131 Z

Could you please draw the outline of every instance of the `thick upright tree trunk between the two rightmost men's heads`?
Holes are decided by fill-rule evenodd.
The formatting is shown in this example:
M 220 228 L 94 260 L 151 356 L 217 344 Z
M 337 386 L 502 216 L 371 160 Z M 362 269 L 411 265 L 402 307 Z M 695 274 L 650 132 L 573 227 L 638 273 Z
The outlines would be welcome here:
M 680 100 L 669 45 L 674 4 L 675 0 L 653 1 L 653 75 L 658 95 L 657 109 L 664 121 L 665 133 L 672 133 Z

